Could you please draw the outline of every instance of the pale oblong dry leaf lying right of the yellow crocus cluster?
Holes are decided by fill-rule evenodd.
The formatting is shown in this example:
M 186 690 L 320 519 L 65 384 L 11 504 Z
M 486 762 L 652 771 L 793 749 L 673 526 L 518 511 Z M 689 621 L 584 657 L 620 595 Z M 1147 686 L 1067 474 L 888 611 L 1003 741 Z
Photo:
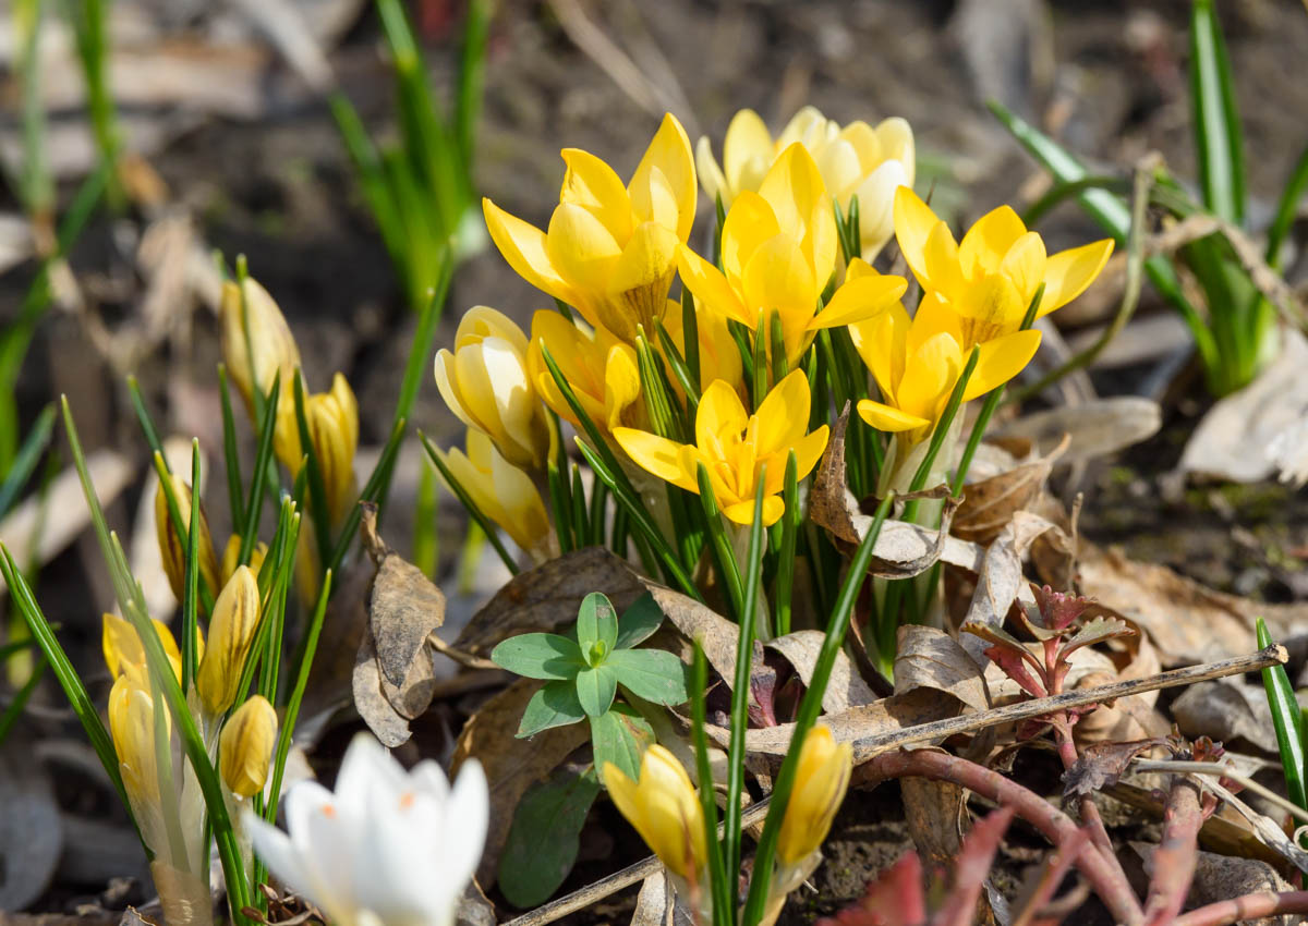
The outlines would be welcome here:
M 1066 439 L 1061 462 L 1071 464 L 1139 443 L 1154 437 L 1162 426 L 1163 411 L 1156 402 L 1126 395 L 1025 415 L 995 433 L 1005 438 L 1029 438 L 1042 453 Z

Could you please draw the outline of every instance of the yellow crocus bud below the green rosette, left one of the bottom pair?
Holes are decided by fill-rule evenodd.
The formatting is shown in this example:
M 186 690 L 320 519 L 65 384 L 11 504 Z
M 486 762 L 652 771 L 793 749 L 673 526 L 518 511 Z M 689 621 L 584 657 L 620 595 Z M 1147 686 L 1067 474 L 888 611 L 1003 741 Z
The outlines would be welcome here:
M 657 743 L 651 746 L 641 759 L 640 782 L 604 763 L 604 787 L 667 870 L 684 882 L 696 882 L 708 859 L 704 808 L 676 756 Z

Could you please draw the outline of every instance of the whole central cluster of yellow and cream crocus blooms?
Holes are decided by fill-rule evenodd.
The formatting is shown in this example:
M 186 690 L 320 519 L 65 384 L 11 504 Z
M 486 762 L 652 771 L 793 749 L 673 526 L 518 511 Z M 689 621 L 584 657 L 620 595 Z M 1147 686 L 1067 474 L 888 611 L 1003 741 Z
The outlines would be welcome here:
M 1039 318 L 1075 298 L 1112 251 L 1100 241 L 1048 256 L 1040 235 L 1007 207 L 956 242 L 912 190 L 913 133 L 903 119 L 840 127 L 807 107 L 774 140 L 746 110 L 722 150 L 722 166 L 706 139 L 692 154 L 668 114 L 625 184 L 594 154 L 565 149 L 559 205 L 544 230 L 484 201 L 500 252 L 559 310 L 536 311 L 530 337 L 494 309 L 463 317 L 453 351 L 437 356 L 436 381 L 468 426 L 467 454 L 451 450 L 442 459 L 538 561 L 555 551 L 539 489 L 551 453 L 545 409 L 578 425 L 545 352 L 624 467 L 634 464 L 633 479 L 651 473 L 698 492 L 704 464 L 719 509 L 739 524 L 751 523 L 764 479 L 763 517 L 772 524 L 783 510 L 790 453 L 802 480 L 827 443 L 827 425 L 810 422 L 835 409 L 812 413 L 806 371 L 823 328 L 848 327 L 879 394 L 858 413 L 896 436 L 892 460 L 903 463 L 931 434 L 973 348 L 963 400 L 1031 361 L 1040 335 L 1020 328 L 1032 301 L 1039 296 Z M 698 182 L 726 211 L 713 259 L 691 246 L 696 163 Z M 855 234 L 855 254 L 844 254 L 841 221 Z M 901 302 L 908 280 L 869 263 L 892 237 L 921 288 L 913 314 Z M 687 445 L 655 433 L 640 371 L 642 344 L 663 351 L 659 326 L 685 354 L 683 303 L 668 298 L 678 275 L 700 341 L 701 395 Z M 763 395 L 757 371 L 755 388 L 743 374 L 740 344 L 756 334 L 766 347 Z

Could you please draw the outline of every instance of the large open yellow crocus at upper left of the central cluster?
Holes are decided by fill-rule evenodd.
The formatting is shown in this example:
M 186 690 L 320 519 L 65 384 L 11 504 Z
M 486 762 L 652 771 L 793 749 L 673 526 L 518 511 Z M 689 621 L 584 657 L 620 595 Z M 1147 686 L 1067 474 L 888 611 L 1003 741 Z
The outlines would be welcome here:
M 576 306 L 630 343 L 653 336 L 676 251 L 695 222 L 695 158 L 685 129 L 663 116 L 630 183 L 594 154 L 562 152 L 568 173 L 547 232 L 483 200 L 487 228 L 505 260 L 534 286 Z

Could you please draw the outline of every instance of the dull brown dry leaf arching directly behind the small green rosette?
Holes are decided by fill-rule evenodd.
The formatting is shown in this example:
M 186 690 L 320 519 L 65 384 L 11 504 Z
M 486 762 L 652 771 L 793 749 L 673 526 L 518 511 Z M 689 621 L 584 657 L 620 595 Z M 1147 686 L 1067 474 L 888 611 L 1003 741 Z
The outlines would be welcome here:
M 514 575 L 472 616 L 454 646 L 488 655 L 496 643 L 514 634 L 552 633 L 574 624 L 581 599 L 593 591 L 608 595 L 621 613 L 645 589 L 627 562 L 603 547 L 586 547 Z

